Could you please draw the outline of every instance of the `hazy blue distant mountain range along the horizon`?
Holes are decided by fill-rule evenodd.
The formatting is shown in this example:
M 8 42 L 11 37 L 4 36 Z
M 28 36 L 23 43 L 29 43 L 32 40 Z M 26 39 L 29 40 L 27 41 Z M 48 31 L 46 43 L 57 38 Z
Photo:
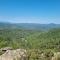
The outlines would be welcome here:
M 0 22 L 1 28 L 19 28 L 19 29 L 34 29 L 34 30 L 46 30 L 51 28 L 60 28 L 60 24 L 35 24 L 35 23 L 3 23 Z

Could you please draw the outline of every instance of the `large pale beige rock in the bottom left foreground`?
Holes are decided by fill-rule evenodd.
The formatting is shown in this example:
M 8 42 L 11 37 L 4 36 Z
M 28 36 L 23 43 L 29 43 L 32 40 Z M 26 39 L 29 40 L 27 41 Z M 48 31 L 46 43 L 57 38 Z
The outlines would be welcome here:
M 26 50 L 7 50 L 4 54 L 0 56 L 0 60 L 27 60 Z

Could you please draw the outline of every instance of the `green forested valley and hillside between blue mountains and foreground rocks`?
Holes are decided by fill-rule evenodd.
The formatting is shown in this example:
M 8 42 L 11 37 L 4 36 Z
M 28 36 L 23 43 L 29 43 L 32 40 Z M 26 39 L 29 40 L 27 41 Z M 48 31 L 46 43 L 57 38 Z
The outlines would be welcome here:
M 0 48 L 60 49 L 60 29 L 34 31 L 22 29 L 1 29 Z

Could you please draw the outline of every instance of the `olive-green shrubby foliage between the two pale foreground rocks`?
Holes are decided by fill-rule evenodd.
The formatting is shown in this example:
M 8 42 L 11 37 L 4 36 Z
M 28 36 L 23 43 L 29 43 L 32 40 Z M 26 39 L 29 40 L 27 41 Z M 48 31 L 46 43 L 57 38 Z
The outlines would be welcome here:
M 27 52 L 28 60 L 51 60 L 54 53 L 51 50 L 41 51 L 39 49 L 31 49 Z

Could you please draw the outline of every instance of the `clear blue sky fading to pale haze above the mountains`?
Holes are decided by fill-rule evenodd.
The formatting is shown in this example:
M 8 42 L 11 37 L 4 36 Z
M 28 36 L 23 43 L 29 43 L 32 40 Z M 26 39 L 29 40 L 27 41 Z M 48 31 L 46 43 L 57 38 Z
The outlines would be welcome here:
M 60 24 L 60 0 L 0 0 L 0 22 Z

